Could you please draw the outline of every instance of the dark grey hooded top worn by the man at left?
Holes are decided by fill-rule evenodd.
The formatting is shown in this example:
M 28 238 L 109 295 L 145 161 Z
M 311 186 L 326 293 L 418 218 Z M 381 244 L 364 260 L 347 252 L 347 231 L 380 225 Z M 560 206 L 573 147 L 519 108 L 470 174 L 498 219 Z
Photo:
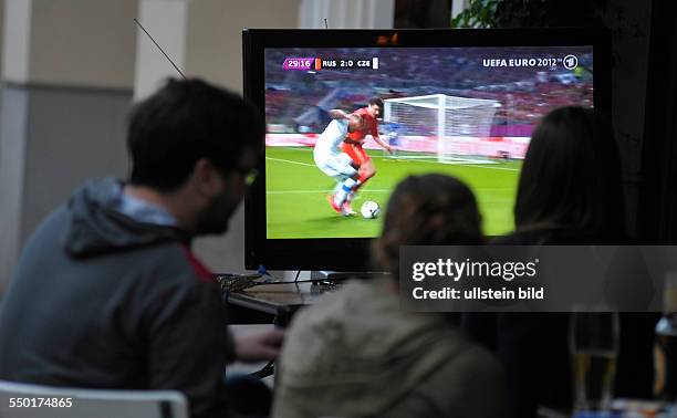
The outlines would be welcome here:
M 177 389 L 191 417 L 223 417 L 218 289 L 186 233 L 115 210 L 121 187 L 85 185 L 25 245 L 0 304 L 0 379 Z

